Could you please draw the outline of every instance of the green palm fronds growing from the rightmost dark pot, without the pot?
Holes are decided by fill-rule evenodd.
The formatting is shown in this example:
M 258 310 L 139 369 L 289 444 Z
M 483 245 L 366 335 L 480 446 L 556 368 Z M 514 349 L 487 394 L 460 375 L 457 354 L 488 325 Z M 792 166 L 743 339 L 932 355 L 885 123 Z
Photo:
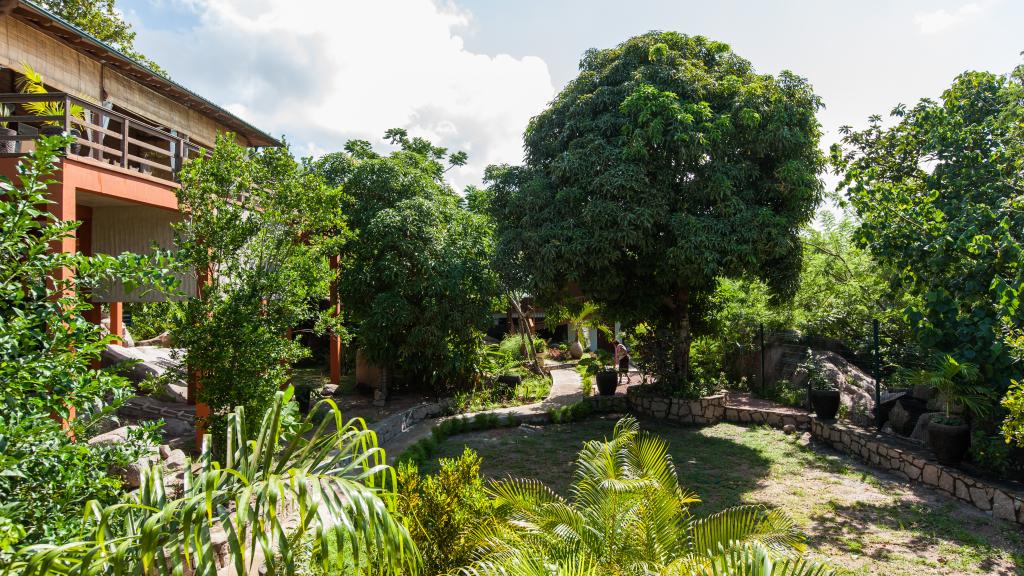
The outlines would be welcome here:
M 984 416 L 989 410 L 988 390 L 976 384 L 980 375 L 978 367 L 970 362 L 938 355 L 932 358 L 927 368 L 911 373 L 909 381 L 937 389 L 943 401 L 943 421 L 958 423 L 959 418 L 952 414 L 953 405 L 963 406 L 977 416 Z

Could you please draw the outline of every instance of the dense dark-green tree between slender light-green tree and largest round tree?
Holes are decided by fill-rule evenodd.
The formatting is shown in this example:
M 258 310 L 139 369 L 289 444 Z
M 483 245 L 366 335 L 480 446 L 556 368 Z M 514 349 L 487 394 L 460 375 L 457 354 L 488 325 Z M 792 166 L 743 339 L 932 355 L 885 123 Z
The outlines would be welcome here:
M 460 206 L 444 181 L 444 149 L 389 130 L 383 157 L 351 146 L 345 181 L 356 239 L 346 252 L 342 300 L 357 345 L 383 369 L 458 387 L 477 370 L 497 296 L 487 220 Z

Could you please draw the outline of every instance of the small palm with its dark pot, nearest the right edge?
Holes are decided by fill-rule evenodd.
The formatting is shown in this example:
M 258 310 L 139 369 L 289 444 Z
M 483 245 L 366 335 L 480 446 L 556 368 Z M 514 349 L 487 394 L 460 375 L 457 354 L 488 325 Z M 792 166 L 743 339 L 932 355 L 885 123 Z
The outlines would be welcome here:
M 911 375 L 912 383 L 934 387 L 942 399 L 942 414 L 928 423 L 928 444 L 941 464 L 958 464 L 971 448 L 971 426 L 953 408 L 978 416 L 988 411 L 988 395 L 975 383 L 979 375 L 977 366 L 949 355 L 935 357 L 930 367 Z

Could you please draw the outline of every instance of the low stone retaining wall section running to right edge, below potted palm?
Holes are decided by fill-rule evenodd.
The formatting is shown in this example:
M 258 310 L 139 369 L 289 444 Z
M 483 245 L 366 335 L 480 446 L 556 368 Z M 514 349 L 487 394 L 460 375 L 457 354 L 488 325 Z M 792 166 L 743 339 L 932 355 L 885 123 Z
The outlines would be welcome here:
M 870 433 L 838 421 L 811 421 L 811 436 L 834 448 L 858 456 L 876 467 L 900 475 L 991 512 L 995 518 L 1024 524 L 1024 495 L 1016 490 L 973 478 L 943 466 L 909 445 L 897 445 Z

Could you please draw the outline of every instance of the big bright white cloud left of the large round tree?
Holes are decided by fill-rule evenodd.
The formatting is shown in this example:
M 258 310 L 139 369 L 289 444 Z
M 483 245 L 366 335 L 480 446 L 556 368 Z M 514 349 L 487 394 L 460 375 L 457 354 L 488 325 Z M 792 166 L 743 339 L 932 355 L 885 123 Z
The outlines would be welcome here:
M 407 128 L 470 156 L 461 189 L 487 164 L 518 163 L 522 130 L 554 94 L 541 58 L 465 49 L 471 14 L 430 0 L 185 0 L 195 23 L 140 23 L 140 48 L 172 77 L 297 154 L 381 142 Z M 143 43 L 144 42 L 144 43 Z

